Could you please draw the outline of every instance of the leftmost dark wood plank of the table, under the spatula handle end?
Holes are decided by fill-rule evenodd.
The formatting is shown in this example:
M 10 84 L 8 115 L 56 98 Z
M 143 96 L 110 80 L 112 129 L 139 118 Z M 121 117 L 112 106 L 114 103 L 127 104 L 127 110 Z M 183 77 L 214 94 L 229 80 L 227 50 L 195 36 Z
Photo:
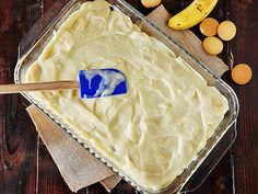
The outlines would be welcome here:
M 0 83 L 13 82 L 17 45 L 27 30 L 27 2 L 0 1 Z M 21 95 L 0 96 L 0 193 L 34 193 L 37 134 Z

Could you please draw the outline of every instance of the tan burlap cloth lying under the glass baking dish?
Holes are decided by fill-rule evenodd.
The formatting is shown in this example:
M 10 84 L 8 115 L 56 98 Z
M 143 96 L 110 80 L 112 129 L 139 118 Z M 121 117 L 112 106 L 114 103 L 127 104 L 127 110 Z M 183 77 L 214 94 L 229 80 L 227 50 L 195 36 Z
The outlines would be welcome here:
M 221 59 L 203 52 L 201 41 L 192 32 L 171 30 L 167 26 L 169 14 L 163 5 L 156 8 L 148 18 L 209 67 L 218 77 L 221 77 L 228 69 Z M 27 107 L 27 112 L 72 192 L 97 182 L 101 182 L 109 192 L 117 185 L 120 181 L 117 174 L 95 159 L 40 110 L 31 105 Z

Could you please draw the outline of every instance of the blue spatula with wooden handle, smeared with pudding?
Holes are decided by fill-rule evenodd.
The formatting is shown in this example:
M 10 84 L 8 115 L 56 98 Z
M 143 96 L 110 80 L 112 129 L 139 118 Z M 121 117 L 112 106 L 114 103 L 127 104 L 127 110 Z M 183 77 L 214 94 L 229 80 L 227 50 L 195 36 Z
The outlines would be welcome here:
M 94 99 L 126 94 L 127 82 L 118 69 L 89 69 L 79 71 L 79 81 L 2 84 L 0 94 L 64 89 L 79 89 L 82 99 Z

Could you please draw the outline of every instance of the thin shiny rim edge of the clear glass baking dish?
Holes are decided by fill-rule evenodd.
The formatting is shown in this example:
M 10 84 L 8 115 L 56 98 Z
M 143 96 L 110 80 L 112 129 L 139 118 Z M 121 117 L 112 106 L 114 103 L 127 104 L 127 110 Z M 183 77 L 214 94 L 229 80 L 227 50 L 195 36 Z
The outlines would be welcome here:
M 75 2 L 80 2 L 80 0 L 73 0 L 73 1 L 70 1 L 68 2 L 66 7 L 69 7 Z M 83 1 L 87 1 L 87 0 L 83 0 Z M 108 0 L 109 3 L 113 3 L 114 1 L 113 0 Z M 197 60 L 189 52 L 187 52 L 185 48 L 183 48 L 181 46 L 179 46 L 172 37 L 169 37 L 166 33 L 164 33 L 159 26 L 156 26 L 154 23 L 152 23 L 149 19 L 146 19 L 143 14 L 141 14 L 139 11 L 137 11 L 134 8 L 132 8 L 129 3 L 127 3 L 126 1 L 124 0 L 116 0 L 115 1 L 115 4 L 116 2 L 119 2 L 121 3 L 122 5 L 125 5 L 126 8 L 130 9 L 130 11 L 132 11 L 133 14 L 138 15 L 142 21 L 146 22 L 148 24 L 150 24 L 152 27 L 154 27 L 156 31 L 159 31 L 159 33 L 162 34 L 162 36 L 165 36 L 166 39 L 171 41 L 175 46 L 177 46 L 181 52 L 184 52 L 186 55 L 188 55 L 189 57 L 191 57 L 197 64 L 199 64 L 203 69 L 206 69 L 210 75 L 212 75 L 214 77 L 214 79 L 216 81 L 219 81 L 223 87 L 227 88 L 231 90 L 232 94 L 234 95 L 233 98 L 236 100 L 236 110 L 235 110 L 235 113 L 231 119 L 231 122 L 227 124 L 226 128 L 228 129 L 234 123 L 236 123 L 236 119 L 237 119 L 237 115 L 238 115 L 238 111 L 239 111 L 239 104 L 238 104 L 238 100 L 237 100 L 237 96 L 235 94 L 235 92 L 233 91 L 233 89 L 227 84 L 225 83 L 221 78 L 218 78 L 207 66 L 204 66 L 202 62 L 200 62 L 199 60 Z M 63 8 L 63 9 L 64 9 Z M 63 10 L 62 9 L 62 10 Z M 44 16 L 44 15 L 43 15 Z M 58 16 L 57 16 L 58 18 Z M 56 21 L 56 19 L 54 21 Z M 52 23 L 49 24 L 49 28 L 52 26 Z M 46 32 L 48 32 L 49 30 L 47 30 Z M 44 36 L 45 34 L 43 34 Z M 42 37 L 43 37 L 42 36 Z M 40 39 L 38 39 L 38 42 L 40 42 Z M 37 42 L 37 43 L 38 43 Z M 36 44 L 37 44 L 36 43 Z M 36 45 L 34 44 L 34 46 Z M 33 49 L 33 47 L 32 47 Z M 27 53 L 30 53 L 31 50 L 28 50 Z M 24 55 L 24 57 L 26 57 L 26 55 Z M 21 58 L 22 59 L 22 58 Z M 17 60 L 17 65 L 15 67 L 15 70 L 14 70 L 14 81 L 16 83 L 21 82 L 20 78 L 19 78 L 19 71 L 20 71 L 20 67 L 22 66 L 22 60 L 19 59 Z M 97 151 L 95 151 L 94 149 L 92 149 L 91 147 L 85 146 L 85 142 L 83 142 L 80 138 L 78 138 L 78 136 L 75 136 L 69 128 L 67 128 L 66 126 L 62 125 L 61 122 L 58 121 L 57 117 L 55 117 L 52 114 L 50 114 L 47 110 L 45 110 L 44 107 L 42 107 L 38 103 L 36 103 L 35 101 L 33 101 L 33 99 L 27 95 L 26 93 L 22 93 L 30 102 L 32 102 L 33 104 L 35 104 L 37 107 L 39 107 L 45 114 L 48 115 L 48 117 L 50 117 L 55 123 L 57 123 L 59 126 L 61 126 L 61 128 L 63 128 L 67 133 L 69 133 L 74 139 L 77 139 L 80 144 L 83 144 L 83 147 L 86 148 L 92 155 L 94 155 L 98 160 L 101 160 L 102 162 L 104 162 L 108 168 L 112 168 L 112 170 L 114 170 L 115 172 L 118 172 L 119 175 L 121 175 L 127 182 L 130 182 L 138 191 L 143 191 L 145 192 L 146 190 L 142 189 L 139 184 L 137 184 L 131 178 L 128 178 L 128 175 L 125 175 L 124 173 L 121 173 L 117 168 L 117 167 L 114 167 L 113 162 L 109 162 L 109 161 L 106 161 L 106 159 L 103 159 L 103 157 L 101 157 Z M 227 132 L 227 129 L 225 129 L 224 133 Z M 221 135 L 221 138 L 223 137 L 223 135 Z M 218 140 L 219 142 L 219 140 Z M 216 145 L 216 144 L 215 144 Z M 214 145 L 214 146 L 215 146 Z M 213 148 L 212 148 L 213 149 Z M 211 149 L 211 150 L 212 150 Z M 199 153 L 198 153 L 199 155 Z M 209 153 L 207 153 L 207 156 L 209 156 Z M 206 159 L 206 158 L 204 158 Z M 203 160 L 204 160 L 203 159 Z M 201 164 L 202 162 L 200 162 Z M 198 166 L 199 167 L 199 166 Z M 198 167 L 196 169 L 198 169 Z M 192 171 L 192 173 L 195 172 L 195 170 Z M 183 172 L 184 173 L 184 172 Z M 192 173 L 189 175 L 189 178 L 192 175 Z M 187 180 L 185 180 L 185 183 L 187 182 Z M 172 183 L 173 184 L 173 183 Z M 183 184 L 178 191 L 184 186 L 185 184 Z M 171 186 L 171 185 L 169 185 Z M 167 187 L 169 187 L 167 186 Z M 163 192 L 163 191 L 166 191 L 166 189 L 162 189 L 161 191 L 148 191 L 148 192 L 151 192 L 151 193 L 160 193 L 160 192 Z

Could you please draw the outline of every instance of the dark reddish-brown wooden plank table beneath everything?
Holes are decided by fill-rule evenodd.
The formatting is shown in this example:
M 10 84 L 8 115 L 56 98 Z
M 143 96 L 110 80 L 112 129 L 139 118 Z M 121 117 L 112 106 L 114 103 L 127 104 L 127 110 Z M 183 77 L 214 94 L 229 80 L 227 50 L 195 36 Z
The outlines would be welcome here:
M 0 0 L 0 83 L 13 82 L 17 45 L 30 27 L 52 4 L 54 0 Z M 139 0 L 128 0 L 143 14 Z M 190 0 L 163 0 L 172 13 L 176 13 Z M 237 36 L 225 45 L 221 57 L 227 62 L 232 49 L 235 64 L 248 62 L 254 78 L 247 85 L 238 87 L 226 73 L 225 79 L 236 91 L 241 102 L 237 124 L 238 137 L 214 171 L 195 194 L 256 194 L 258 193 L 258 1 L 219 0 L 212 15 L 230 19 L 237 25 Z M 198 32 L 194 31 L 203 38 Z M 30 103 L 19 94 L 0 95 L 0 193 L 1 194 L 69 194 L 46 147 L 35 130 L 25 107 Z M 101 184 L 79 192 L 106 193 Z M 121 182 L 113 194 L 136 193 Z

